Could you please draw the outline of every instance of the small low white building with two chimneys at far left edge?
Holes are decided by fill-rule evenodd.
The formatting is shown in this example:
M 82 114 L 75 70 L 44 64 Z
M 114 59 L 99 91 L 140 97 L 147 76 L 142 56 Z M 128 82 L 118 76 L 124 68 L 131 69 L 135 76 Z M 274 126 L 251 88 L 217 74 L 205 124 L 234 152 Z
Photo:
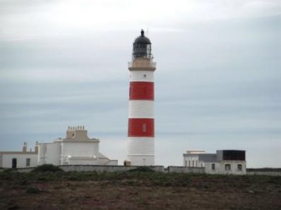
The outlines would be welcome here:
M 28 168 L 37 166 L 37 142 L 35 151 L 28 151 L 28 143 L 23 143 L 22 152 L 0 152 L 0 168 Z

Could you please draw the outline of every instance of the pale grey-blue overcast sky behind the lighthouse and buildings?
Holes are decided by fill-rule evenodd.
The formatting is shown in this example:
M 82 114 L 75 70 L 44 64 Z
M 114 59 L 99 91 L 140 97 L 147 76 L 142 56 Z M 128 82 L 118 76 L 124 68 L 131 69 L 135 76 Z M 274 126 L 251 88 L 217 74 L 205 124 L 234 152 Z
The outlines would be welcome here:
M 126 158 L 128 61 L 152 42 L 158 165 L 245 149 L 281 167 L 281 1 L 0 0 L 0 151 L 85 125 Z

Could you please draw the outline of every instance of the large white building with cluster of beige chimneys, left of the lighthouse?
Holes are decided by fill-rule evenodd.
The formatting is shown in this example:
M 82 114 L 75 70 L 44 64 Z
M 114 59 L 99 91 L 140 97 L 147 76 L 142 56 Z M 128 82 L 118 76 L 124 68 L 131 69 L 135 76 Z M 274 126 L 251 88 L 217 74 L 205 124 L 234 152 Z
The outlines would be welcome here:
M 99 151 L 100 140 L 90 139 L 84 126 L 68 127 L 66 138 L 40 143 L 38 165 L 117 165 Z

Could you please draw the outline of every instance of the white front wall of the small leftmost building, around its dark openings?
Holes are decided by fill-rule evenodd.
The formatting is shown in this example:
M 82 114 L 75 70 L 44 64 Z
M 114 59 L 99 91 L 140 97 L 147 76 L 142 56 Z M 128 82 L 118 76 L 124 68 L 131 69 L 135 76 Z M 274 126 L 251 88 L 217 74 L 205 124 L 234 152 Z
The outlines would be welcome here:
M 17 168 L 37 166 L 37 154 L 2 154 L 3 168 L 12 168 L 12 159 L 17 159 Z M 26 159 L 30 159 L 30 166 L 26 166 Z

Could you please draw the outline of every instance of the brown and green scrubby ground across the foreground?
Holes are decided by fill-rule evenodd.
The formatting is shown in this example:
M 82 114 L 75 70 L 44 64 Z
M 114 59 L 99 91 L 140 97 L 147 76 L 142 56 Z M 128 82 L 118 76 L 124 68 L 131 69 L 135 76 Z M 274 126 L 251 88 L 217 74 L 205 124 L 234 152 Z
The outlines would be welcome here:
M 0 209 L 281 209 L 281 177 L 4 171 Z

